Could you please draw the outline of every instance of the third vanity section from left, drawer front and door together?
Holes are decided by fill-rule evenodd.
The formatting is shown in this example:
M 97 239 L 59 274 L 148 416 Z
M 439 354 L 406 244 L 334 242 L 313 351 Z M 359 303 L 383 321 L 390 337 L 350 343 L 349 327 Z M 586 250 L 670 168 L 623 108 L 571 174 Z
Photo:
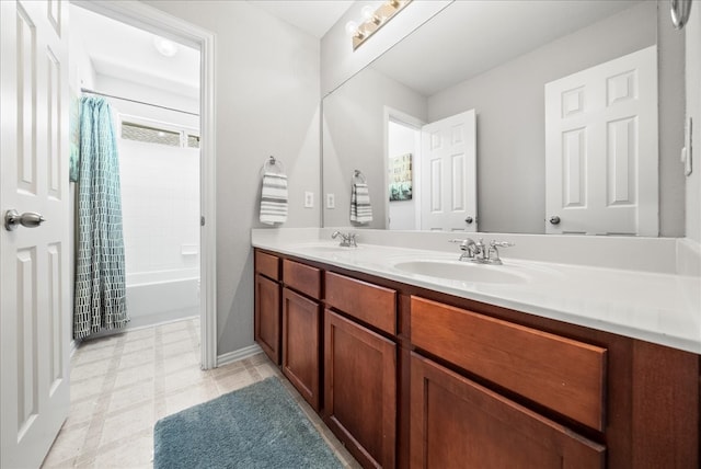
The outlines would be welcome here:
M 364 467 L 395 467 L 395 291 L 325 273 L 324 422 Z M 334 308 L 343 313 L 336 313 Z

